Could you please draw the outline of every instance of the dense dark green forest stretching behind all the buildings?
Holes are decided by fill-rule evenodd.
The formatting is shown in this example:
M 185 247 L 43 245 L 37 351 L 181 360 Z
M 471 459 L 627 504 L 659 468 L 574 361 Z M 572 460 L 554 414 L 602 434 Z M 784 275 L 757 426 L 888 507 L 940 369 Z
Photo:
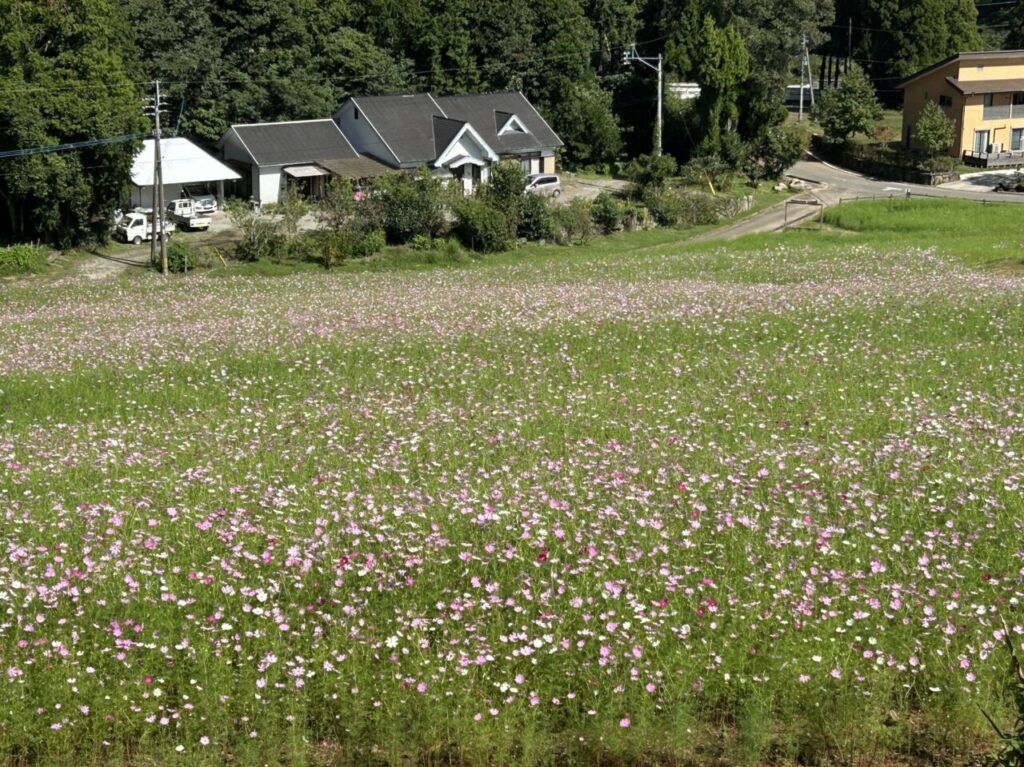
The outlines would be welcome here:
M 565 160 L 598 166 L 651 147 L 656 79 L 624 63 L 634 42 L 702 86 L 667 108 L 680 160 L 728 160 L 777 125 L 804 37 L 829 73 L 859 65 L 883 91 L 957 50 L 1024 45 L 1024 0 L 0 0 L 0 151 L 140 134 L 159 78 L 169 130 L 208 143 L 353 94 L 522 90 Z M 0 228 L 86 236 L 131 154 L 0 160 Z

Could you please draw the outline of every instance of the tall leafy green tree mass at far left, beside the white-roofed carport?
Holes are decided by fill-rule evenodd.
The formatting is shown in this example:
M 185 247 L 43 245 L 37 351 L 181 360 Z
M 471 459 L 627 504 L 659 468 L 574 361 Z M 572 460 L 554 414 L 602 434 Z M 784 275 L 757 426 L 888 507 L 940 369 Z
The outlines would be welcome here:
M 130 32 L 113 0 L 0 0 L 0 150 L 145 130 Z M 57 246 L 100 237 L 137 146 L 4 160 L 0 237 Z

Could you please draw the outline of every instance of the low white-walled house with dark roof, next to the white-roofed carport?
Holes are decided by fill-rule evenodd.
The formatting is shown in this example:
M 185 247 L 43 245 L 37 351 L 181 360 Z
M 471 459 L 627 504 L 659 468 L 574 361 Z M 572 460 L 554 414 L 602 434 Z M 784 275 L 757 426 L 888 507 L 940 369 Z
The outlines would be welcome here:
M 331 175 L 364 179 L 389 171 L 357 153 L 328 119 L 232 125 L 217 146 L 241 172 L 236 195 L 261 205 L 276 203 L 289 182 L 319 197 Z

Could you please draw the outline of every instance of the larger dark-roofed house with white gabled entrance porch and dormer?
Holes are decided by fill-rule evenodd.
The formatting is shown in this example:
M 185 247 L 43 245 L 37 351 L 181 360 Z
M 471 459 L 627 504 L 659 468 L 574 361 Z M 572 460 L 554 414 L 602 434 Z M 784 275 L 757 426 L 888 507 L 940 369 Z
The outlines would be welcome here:
M 395 169 L 426 166 L 467 194 L 503 159 L 518 161 L 527 174 L 553 173 L 562 146 L 522 93 L 360 96 L 334 119 L 359 153 Z

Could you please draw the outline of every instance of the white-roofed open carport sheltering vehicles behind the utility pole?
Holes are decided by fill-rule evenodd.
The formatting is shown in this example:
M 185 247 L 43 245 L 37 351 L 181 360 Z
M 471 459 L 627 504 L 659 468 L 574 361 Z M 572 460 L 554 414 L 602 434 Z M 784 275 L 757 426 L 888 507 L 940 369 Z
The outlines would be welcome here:
M 160 141 L 164 173 L 164 200 L 178 200 L 191 194 L 215 190 L 217 203 L 224 204 L 224 181 L 236 181 L 241 176 L 187 138 L 164 138 Z M 131 169 L 131 204 L 141 208 L 154 207 L 156 168 L 155 141 L 146 138 L 142 151 L 135 157 Z

